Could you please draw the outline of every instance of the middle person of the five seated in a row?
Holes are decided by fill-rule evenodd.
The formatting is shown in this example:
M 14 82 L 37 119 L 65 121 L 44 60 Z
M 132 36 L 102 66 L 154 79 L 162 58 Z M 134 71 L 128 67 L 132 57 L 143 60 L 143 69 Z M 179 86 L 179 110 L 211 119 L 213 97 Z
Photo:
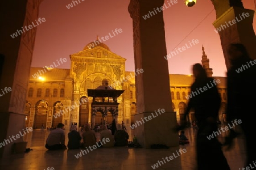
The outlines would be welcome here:
M 82 133 L 82 139 L 84 143 L 82 143 L 82 147 L 89 148 L 89 146 L 96 145 L 97 139 L 95 132 L 90 130 L 90 125 L 85 125 L 85 131 Z

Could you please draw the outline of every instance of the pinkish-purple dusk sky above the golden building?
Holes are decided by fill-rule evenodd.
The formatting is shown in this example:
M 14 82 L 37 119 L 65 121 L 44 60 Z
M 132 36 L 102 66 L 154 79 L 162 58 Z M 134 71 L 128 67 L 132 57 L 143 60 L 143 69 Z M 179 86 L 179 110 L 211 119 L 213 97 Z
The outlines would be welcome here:
M 254 0 L 242 2 L 245 8 L 255 10 Z M 68 9 L 66 6 L 69 3 L 72 1 L 42 2 L 39 17 L 45 18 L 46 22 L 38 25 L 32 67 L 49 66 L 62 57 L 67 58 L 68 62 L 57 68 L 70 69 L 70 54 L 80 52 L 86 44 L 96 40 L 97 35 L 105 37 L 115 28 L 121 28 L 122 33 L 106 40 L 104 44 L 113 53 L 127 59 L 126 71 L 134 71 L 133 25 L 127 10 L 130 0 L 80 0 L 78 5 Z M 165 3 L 168 6 L 167 1 Z M 210 0 L 198 0 L 193 7 L 187 7 L 183 0 L 177 0 L 176 4 L 163 10 L 163 15 L 167 53 L 185 46 L 186 43 L 189 46 L 189 41 L 193 39 L 199 41 L 168 59 L 170 74 L 191 74 L 191 65 L 201 62 L 201 46 L 204 45 L 213 76 L 226 76 L 220 37 L 212 25 L 216 20 L 216 13 Z M 255 18 L 256 15 L 254 31 Z

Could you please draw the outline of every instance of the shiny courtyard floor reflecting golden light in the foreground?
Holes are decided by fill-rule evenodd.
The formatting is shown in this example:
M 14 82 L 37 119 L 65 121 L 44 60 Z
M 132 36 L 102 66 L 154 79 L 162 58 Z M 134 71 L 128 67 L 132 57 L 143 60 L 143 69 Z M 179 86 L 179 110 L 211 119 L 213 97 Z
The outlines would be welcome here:
M 66 134 L 69 131 L 66 130 Z M 127 130 L 131 141 L 133 131 Z M 113 148 L 97 148 L 90 151 L 88 154 L 76 158 L 81 150 L 63 150 L 63 151 L 48 151 L 44 145 L 48 137 L 47 130 L 34 130 L 27 136 L 27 148 L 32 151 L 26 154 L 13 154 L 10 158 L 3 158 L 0 161 L 0 169 L 7 170 L 80 170 L 80 169 L 112 169 L 112 170 L 146 170 L 146 169 L 175 169 L 175 170 L 193 170 L 196 169 L 195 159 L 195 135 L 196 130 L 189 128 L 185 130 L 185 135 L 189 138 L 190 144 L 172 147 L 170 149 L 145 149 L 145 148 L 129 148 L 129 147 L 113 147 Z M 168 134 L 167 134 L 168 135 Z M 223 139 L 225 134 L 220 136 Z M 99 138 L 97 133 L 97 138 Z M 67 135 L 66 135 L 67 138 Z M 66 139 L 66 144 L 68 139 Z M 224 154 L 228 160 L 231 169 L 242 169 L 245 161 L 245 150 L 243 146 L 243 137 L 236 139 L 234 148 L 230 151 L 225 151 Z M 158 165 L 154 164 L 176 153 L 179 148 L 185 148 L 186 153 L 177 156 L 170 162 Z M 205 169 L 207 170 L 207 169 Z M 217 169 L 216 169 L 217 170 Z

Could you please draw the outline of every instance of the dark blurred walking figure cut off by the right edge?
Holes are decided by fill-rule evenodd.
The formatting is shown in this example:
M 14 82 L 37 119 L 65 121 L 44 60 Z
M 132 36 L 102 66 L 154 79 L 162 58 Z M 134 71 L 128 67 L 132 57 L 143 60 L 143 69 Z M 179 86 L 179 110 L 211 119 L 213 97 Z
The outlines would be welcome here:
M 256 145 L 251 130 L 255 129 L 255 96 L 256 96 L 256 60 L 249 57 L 243 44 L 230 44 L 228 49 L 230 69 L 227 73 L 228 104 L 226 110 L 227 123 L 232 125 L 235 119 L 241 119 L 240 124 L 245 135 L 246 165 L 256 160 Z M 246 90 L 250 91 L 246 91 Z M 225 145 L 229 148 L 237 133 L 230 129 Z

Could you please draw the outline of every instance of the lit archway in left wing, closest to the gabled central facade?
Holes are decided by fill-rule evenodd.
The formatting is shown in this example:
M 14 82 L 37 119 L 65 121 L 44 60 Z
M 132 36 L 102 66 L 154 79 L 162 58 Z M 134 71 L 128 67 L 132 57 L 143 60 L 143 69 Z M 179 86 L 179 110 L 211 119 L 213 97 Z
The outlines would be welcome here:
M 63 115 L 61 114 L 62 110 L 63 104 L 61 101 L 56 101 L 53 106 L 53 114 L 55 114 L 55 116 L 52 117 L 52 128 L 56 128 L 59 123 L 63 122 Z

